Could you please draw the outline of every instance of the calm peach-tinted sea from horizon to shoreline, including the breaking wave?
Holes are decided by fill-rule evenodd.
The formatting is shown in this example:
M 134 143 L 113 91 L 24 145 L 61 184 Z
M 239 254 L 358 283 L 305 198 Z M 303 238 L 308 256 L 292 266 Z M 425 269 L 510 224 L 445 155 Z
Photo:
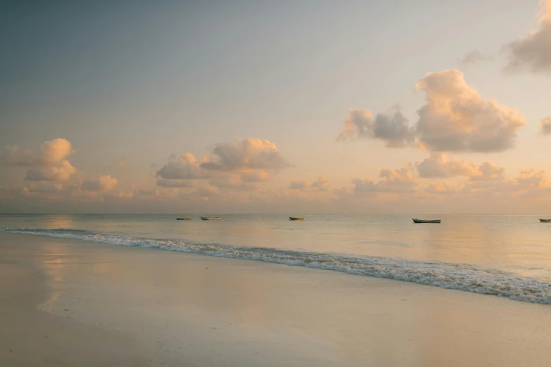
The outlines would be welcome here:
M 176 217 L 193 217 L 177 221 Z M 0 215 L 1 231 L 156 247 L 394 278 L 551 303 L 551 224 L 541 216 Z M 442 219 L 414 224 L 412 217 Z M 549 216 L 551 217 L 551 215 Z

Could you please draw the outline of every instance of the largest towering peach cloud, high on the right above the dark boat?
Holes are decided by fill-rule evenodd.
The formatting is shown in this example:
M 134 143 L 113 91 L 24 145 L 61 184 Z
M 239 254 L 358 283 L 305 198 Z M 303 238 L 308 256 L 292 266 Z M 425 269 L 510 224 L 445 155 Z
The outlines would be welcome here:
M 516 110 L 483 101 L 459 70 L 429 73 L 417 83 L 427 103 L 418 111 L 419 141 L 438 152 L 501 152 L 526 124 Z

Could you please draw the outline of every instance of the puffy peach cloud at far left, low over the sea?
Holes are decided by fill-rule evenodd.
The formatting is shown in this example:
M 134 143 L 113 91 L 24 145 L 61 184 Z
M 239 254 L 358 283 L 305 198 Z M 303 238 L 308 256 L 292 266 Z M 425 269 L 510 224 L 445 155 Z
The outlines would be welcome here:
M 58 138 L 44 142 L 39 153 L 20 150 L 18 146 L 7 146 L 4 162 L 8 165 L 31 167 L 27 169 L 25 180 L 66 181 L 77 172 L 66 159 L 72 153 L 74 151 L 71 143 Z

